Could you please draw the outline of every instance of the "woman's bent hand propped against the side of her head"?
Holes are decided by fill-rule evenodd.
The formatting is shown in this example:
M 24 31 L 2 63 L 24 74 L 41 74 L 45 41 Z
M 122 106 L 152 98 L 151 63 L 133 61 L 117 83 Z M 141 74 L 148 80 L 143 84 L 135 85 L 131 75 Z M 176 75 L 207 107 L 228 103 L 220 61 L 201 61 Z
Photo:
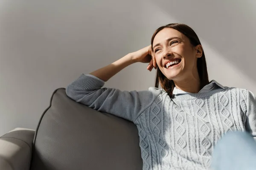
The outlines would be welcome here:
M 135 51 L 131 53 L 131 58 L 135 62 L 143 62 L 143 63 L 148 63 L 147 69 L 151 71 L 153 68 L 157 68 L 157 62 L 154 57 L 154 52 L 152 51 L 151 45 L 148 45 L 145 48 L 142 48 L 138 51 Z

